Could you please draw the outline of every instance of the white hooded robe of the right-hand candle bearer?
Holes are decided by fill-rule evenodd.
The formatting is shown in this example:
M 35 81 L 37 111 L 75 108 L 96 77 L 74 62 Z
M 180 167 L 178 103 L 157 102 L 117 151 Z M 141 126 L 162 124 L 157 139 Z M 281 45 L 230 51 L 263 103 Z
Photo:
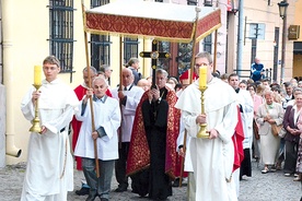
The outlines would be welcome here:
M 207 201 L 237 200 L 232 177 L 234 146 L 232 135 L 237 123 L 236 94 L 226 83 L 213 78 L 205 92 L 207 130 L 216 129 L 217 139 L 196 138 L 199 125 L 196 117 L 201 113 L 198 80 L 178 98 L 176 108 L 182 110 L 185 128 L 190 139 L 190 157 L 196 179 L 196 199 Z M 226 181 L 228 180 L 228 181 Z

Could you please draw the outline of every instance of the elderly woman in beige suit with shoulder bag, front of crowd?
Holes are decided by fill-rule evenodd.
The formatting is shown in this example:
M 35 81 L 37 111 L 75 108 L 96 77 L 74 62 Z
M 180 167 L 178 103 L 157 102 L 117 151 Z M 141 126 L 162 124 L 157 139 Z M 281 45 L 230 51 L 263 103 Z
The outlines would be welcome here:
M 271 125 L 282 125 L 283 108 L 281 104 L 274 102 L 274 92 L 269 90 L 265 91 L 264 97 L 265 103 L 262 104 L 258 108 L 256 121 L 259 125 L 259 135 L 262 139 L 260 159 L 265 166 L 262 173 L 266 174 L 269 170 L 276 170 L 271 167 L 276 164 L 280 145 L 280 138 L 272 134 Z

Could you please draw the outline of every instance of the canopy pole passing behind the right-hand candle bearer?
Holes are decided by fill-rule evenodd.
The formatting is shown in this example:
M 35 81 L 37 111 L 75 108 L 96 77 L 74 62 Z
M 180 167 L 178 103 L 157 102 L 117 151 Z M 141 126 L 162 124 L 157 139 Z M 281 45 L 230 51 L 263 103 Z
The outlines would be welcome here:
M 199 7 L 195 8 L 196 11 L 196 19 L 194 23 L 194 31 L 193 31 L 193 49 L 191 49 L 191 58 L 190 58 L 190 76 L 189 76 L 189 84 L 193 83 L 193 75 L 194 75 L 194 67 L 195 67 L 195 55 L 196 55 L 196 32 L 197 32 L 197 23 L 199 17 L 199 12 L 201 9 Z M 185 155 L 186 155 L 186 143 L 187 143 L 187 130 L 185 130 L 184 141 L 183 141 L 183 150 L 184 156 L 182 157 L 182 166 L 181 166 L 181 176 L 179 176 L 179 187 L 182 187 L 183 182 L 183 175 L 184 175 L 184 166 L 185 166 Z

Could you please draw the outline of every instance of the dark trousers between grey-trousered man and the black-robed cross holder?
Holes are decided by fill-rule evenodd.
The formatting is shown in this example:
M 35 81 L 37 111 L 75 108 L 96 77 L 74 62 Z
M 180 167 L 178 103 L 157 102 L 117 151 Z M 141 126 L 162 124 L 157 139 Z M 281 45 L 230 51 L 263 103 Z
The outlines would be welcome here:
M 121 147 L 118 149 L 118 159 L 115 161 L 115 177 L 118 187 L 128 187 L 128 177 L 126 177 L 127 157 L 130 142 L 121 142 Z

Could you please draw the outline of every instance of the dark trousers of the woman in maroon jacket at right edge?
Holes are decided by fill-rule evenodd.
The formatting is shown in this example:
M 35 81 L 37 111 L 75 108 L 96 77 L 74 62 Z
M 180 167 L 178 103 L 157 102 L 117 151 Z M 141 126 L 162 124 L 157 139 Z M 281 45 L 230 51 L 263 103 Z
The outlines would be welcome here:
M 298 142 L 286 141 L 286 161 L 284 161 L 284 173 L 295 173 L 297 156 L 298 156 Z

